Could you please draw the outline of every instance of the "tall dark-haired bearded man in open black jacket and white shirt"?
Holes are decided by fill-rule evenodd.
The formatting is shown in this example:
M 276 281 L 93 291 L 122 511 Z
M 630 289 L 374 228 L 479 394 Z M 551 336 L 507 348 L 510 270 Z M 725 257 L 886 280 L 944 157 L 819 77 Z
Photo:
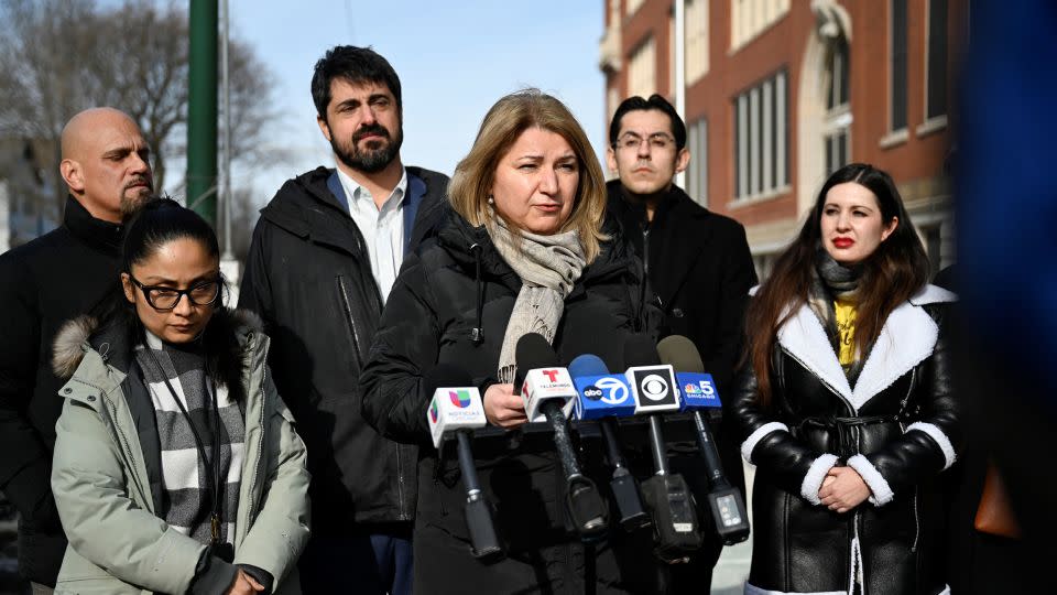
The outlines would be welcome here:
M 261 210 L 239 305 L 272 337 L 275 386 L 312 473 L 305 593 L 411 593 L 417 450 L 360 413 L 359 377 L 404 255 L 442 214 L 448 178 L 404 166 L 400 79 L 369 47 L 337 46 L 312 78 L 336 167 L 287 181 Z

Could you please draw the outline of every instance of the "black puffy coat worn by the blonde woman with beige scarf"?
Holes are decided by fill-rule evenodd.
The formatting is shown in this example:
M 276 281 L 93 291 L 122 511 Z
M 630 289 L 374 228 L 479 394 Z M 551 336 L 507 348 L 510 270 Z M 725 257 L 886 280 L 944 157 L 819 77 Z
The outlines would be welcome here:
M 642 284 L 642 264 L 619 238 L 604 244 L 565 301 L 553 342 L 559 357 L 568 361 L 595 353 L 621 361 L 626 336 L 652 334 L 656 321 L 640 300 Z M 454 364 L 482 388 L 494 383 L 520 289 L 520 278 L 486 229 L 453 214 L 435 240 L 408 257 L 390 294 L 363 372 L 364 418 L 385 436 L 428 443 L 432 396 L 423 376 L 437 364 Z M 483 329 L 480 344 L 471 338 L 475 327 Z M 599 592 L 658 592 L 647 539 L 635 541 L 643 547 L 638 560 L 618 565 L 618 556 L 630 550 L 613 542 L 585 548 L 566 532 L 554 439 L 536 425 L 545 424 L 512 432 L 487 429 L 491 435 L 479 433 L 473 442 L 480 484 L 498 510 L 497 528 L 509 540 L 508 558 L 493 564 L 470 555 L 466 489 L 453 445 L 439 459 L 432 446 L 419 450 L 415 592 L 582 593 L 585 576 L 597 578 L 591 588 L 597 583 Z M 600 451 L 581 451 L 581 461 L 591 452 Z M 584 468 L 601 470 L 600 463 L 585 461 Z M 596 482 L 606 485 L 600 477 Z

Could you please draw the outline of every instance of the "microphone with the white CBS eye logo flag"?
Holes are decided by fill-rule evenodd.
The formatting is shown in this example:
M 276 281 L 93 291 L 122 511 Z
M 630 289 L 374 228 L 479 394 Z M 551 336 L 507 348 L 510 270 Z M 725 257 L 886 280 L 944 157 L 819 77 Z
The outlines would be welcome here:
M 635 335 L 624 345 L 624 359 L 639 363 L 628 368 L 626 378 L 635 398 L 635 413 L 646 413 L 650 443 L 656 472 L 642 483 L 642 497 L 653 516 L 654 553 L 667 562 L 685 560 L 701 547 L 694 496 L 686 479 L 668 470 L 668 457 L 661 432 L 660 411 L 678 411 L 675 374 L 661 364 L 653 340 Z

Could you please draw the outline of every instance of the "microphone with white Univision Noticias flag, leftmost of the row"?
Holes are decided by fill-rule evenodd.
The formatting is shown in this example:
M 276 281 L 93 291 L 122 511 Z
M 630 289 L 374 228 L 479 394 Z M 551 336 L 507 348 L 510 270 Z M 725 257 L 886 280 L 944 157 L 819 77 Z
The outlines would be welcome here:
M 433 434 L 433 445 L 439 451 L 446 439 L 454 434 L 458 441 L 459 470 L 466 485 L 466 526 L 470 532 L 470 553 L 486 561 L 503 558 L 503 547 L 492 521 L 492 506 L 484 498 L 473 465 L 470 436 L 477 428 L 484 428 L 484 405 L 481 394 L 473 387 L 470 375 L 450 364 L 439 364 L 426 374 L 426 391 L 433 391 L 433 400 L 426 412 L 426 421 Z

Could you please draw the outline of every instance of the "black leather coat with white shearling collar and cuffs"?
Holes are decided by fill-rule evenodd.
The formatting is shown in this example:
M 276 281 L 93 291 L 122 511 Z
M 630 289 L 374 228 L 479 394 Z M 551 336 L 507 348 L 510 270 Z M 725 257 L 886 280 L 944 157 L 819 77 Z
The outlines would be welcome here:
M 747 366 L 734 410 L 756 465 L 749 583 L 767 593 L 942 593 L 945 543 L 939 473 L 962 443 L 941 302 L 927 285 L 885 321 L 849 388 L 822 324 L 803 306 L 778 331 L 773 400 L 755 402 Z M 854 468 L 872 495 L 839 515 L 818 490 L 833 465 Z

